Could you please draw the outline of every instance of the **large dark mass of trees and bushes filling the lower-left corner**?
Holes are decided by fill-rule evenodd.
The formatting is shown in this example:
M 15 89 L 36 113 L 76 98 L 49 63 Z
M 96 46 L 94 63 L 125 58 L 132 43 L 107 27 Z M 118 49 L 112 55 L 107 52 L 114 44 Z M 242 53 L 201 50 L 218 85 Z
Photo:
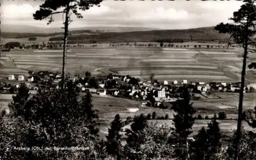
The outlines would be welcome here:
M 74 86 L 71 83 L 67 86 L 65 90 L 41 91 L 30 98 L 27 98 L 25 85 L 19 88 L 17 96 L 13 97 L 14 102 L 10 105 L 9 120 L 1 121 L 2 127 L 4 124 L 9 128 L 3 129 L 5 133 L 0 137 L 7 140 L 10 146 L 9 149 L 1 148 L 4 159 L 97 158 L 95 140 L 98 136 L 98 116 L 91 105 L 90 95 L 87 94 L 79 102 Z M 14 147 L 20 146 L 82 146 L 86 150 L 15 150 Z

